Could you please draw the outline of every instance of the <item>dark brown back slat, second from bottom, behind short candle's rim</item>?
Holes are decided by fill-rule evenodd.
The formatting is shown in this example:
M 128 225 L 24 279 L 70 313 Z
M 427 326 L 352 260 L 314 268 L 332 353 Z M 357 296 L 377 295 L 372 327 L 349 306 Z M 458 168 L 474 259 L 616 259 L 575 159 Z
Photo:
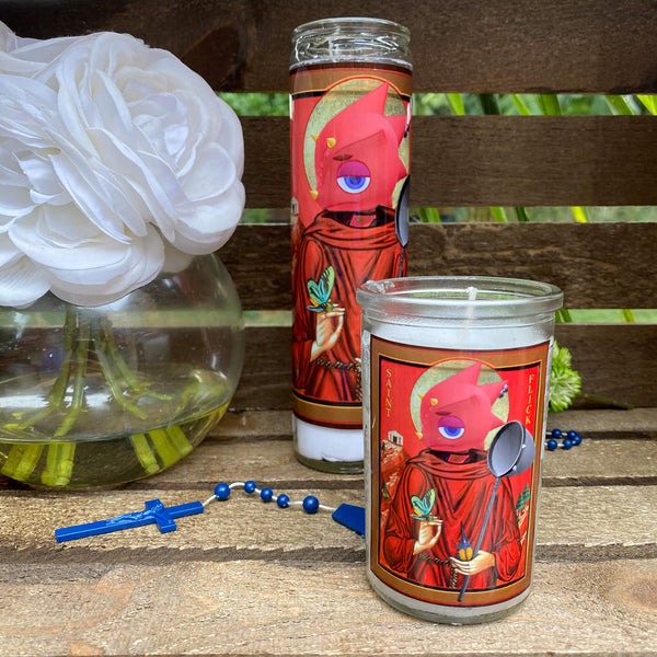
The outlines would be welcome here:
M 567 308 L 657 308 L 655 244 L 657 223 L 413 223 L 408 275 L 530 278 Z M 288 226 L 239 226 L 219 256 L 245 309 L 290 308 Z

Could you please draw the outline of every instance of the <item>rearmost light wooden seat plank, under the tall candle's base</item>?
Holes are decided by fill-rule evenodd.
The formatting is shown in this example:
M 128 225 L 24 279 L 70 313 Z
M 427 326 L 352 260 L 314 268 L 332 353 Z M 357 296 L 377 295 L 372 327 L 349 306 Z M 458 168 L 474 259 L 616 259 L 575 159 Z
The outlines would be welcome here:
M 548 427 L 574 428 L 584 443 L 569 452 L 545 452 L 543 485 L 657 483 L 657 408 L 568 411 L 550 414 Z M 130 489 L 194 491 L 201 495 L 209 494 L 219 480 L 244 477 L 285 491 L 362 489 L 362 475 L 335 477 L 299 468 L 290 438 L 290 411 L 229 412 L 203 446 L 175 468 L 135 482 Z M 0 477 L 0 489 L 10 488 L 22 486 Z

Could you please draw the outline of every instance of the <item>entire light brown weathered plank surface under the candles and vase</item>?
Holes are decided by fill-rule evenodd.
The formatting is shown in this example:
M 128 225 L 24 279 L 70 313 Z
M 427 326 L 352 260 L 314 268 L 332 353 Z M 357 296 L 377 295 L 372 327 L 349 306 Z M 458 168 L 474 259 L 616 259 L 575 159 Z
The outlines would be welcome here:
M 56 543 L 56 528 L 206 500 L 255 480 L 291 499 L 362 504 L 361 476 L 292 454 L 287 412 L 228 414 L 182 463 L 113 491 L 0 481 L 0 655 L 657 655 L 657 411 L 568 412 L 585 435 L 546 452 L 532 592 L 514 614 L 454 627 L 369 588 L 365 542 L 243 491 L 154 526 Z

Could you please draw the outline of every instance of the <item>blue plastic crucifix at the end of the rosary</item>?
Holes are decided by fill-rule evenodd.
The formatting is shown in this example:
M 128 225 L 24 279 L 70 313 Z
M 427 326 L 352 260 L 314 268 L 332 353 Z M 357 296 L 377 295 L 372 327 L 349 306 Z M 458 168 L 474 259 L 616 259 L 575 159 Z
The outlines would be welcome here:
M 152 525 L 160 528 L 160 533 L 175 531 L 174 518 L 184 516 L 195 516 L 203 514 L 204 506 L 200 502 L 189 502 L 178 506 L 165 507 L 159 499 L 149 499 L 146 503 L 146 509 L 136 514 L 124 514 L 110 520 L 99 520 L 87 525 L 76 525 L 74 527 L 64 527 L 55 530 L 55 538 L 58 543 L 62 541 L 73 541 L 85 537 L 95 537 L 102 533 L 130 529 L 131 527 L 141 527 L 142 525 Z

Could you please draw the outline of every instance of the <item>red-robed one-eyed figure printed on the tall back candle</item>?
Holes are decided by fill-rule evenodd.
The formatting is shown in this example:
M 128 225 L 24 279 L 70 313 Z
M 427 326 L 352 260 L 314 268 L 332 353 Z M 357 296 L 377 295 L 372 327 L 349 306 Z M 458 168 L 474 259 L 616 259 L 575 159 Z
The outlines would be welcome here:
M 326 402 L 360 400 L 360 308 L 356 289 L 402 276 L 393 192 L 407 175 L 399 148 L 407 116 L 385 116 L 382 83 L 314 136 L 320 207 L 299 239 L 292 325 L 295 392 Z

